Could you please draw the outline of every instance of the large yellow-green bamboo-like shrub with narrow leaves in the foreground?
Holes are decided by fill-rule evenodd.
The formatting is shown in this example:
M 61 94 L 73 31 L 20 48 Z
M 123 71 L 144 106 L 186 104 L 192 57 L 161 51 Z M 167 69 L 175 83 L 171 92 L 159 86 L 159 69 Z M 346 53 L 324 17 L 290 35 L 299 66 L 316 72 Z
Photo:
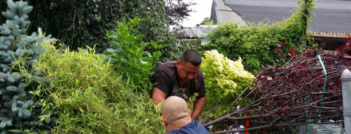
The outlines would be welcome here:
M 94 54 L 94 48 L 69 51 L 44 46 L 47 50 L 35 69 L 51 84 L 34 92 L 42 97 L 44 109 L 59 117 L 51 133 L 165 132 L 160 111 L 147 92 L 134 93 L 112 64 Z

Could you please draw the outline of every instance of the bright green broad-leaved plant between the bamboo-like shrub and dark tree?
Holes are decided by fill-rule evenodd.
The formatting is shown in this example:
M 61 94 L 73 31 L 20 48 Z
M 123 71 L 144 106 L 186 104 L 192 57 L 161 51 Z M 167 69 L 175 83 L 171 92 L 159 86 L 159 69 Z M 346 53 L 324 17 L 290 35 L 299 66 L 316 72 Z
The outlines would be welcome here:
M 117 22 L 115 31 L 106 31 L 111 48 L 103 53 L 110 57 L 111 64 L 116 68 L 118 75 L 123 75 L 124 81 L 130 80 L 135 86 L 151 89 L 149 78 L 157 59 L 161 56 L 159 50 L 167 45 L 159 45 L 154 41 L 144 42 L 141 38 L 145 35 L 134 34 L 134 27 L 143 20 L 145 19 L 135 17 L 126 24 Z M 153 47 L 154 52 L 144 50 L 149 45 Z

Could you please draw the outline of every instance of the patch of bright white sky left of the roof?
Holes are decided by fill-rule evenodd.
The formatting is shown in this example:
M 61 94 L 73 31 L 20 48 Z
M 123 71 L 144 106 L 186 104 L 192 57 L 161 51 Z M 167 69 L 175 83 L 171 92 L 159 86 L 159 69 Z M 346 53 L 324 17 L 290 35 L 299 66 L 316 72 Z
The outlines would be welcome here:
M 191 5 L 190 8 L 194 10 L 190 12 L 190 16 L 188 16 L 188 20 L 184 20 L 180 24 L 184 27 L 195 26 L 196 24 L 200 24 L 203 18 L 210 18 L 211 15 L 211 6 L 213 0 L 183 0 L 184 2 L 192 1 L 197 3 L 195 5 Z

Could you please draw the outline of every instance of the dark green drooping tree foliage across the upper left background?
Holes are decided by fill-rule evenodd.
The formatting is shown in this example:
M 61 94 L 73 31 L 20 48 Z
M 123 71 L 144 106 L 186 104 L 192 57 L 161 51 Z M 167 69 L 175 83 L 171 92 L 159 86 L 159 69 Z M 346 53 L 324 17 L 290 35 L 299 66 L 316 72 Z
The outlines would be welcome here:
M 115 21 L 127 23 L 129 19 L 145 18 L 135 28 L 136 34 L 144 34 L 141 40 L 168 44 L 161 49 L 163 61 L 177 59 L 188 47 L 178 46 L 175 37 L 169 32 L 170 20 L 182 20 L 192 11 L 188 7 L 193 2 L 173 0 L 24 0 L 34 7 L 30 12 L 29 32 L 41 27 L 44 31 L 58 38 L 71 50 L 84 48 L 86 45 L 95 47 L 97 53 L 110 48 L 105 38 L 106 30 L 116 28 Z M 168 3 L 165 5 L 165 3 Z M 0 1 L 0 9 L 6 10 Z M 166 10 L 165 10 L 166 9 Z M 167 11 L 167 12 L 166 12 Z M 0 20 L 4 20 L 0 17 Z M 150 45 L 147 51 L 153 51 Z

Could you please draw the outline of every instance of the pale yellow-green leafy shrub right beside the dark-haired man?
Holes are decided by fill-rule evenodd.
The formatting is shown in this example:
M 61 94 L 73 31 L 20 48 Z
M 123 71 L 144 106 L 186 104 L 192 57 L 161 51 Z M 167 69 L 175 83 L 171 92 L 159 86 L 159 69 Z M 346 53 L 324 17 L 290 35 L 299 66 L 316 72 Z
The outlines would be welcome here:
M 244 69 L 241 58 L 233 61 L 217 50 L 205 51 L 204 54 L 201 69 L 205 75 L 207 100 L 200 121 L 226 113 L 230 100 L 239 96 L 255 78 Z M 249 101 L 242 105 L 247 103 Z

